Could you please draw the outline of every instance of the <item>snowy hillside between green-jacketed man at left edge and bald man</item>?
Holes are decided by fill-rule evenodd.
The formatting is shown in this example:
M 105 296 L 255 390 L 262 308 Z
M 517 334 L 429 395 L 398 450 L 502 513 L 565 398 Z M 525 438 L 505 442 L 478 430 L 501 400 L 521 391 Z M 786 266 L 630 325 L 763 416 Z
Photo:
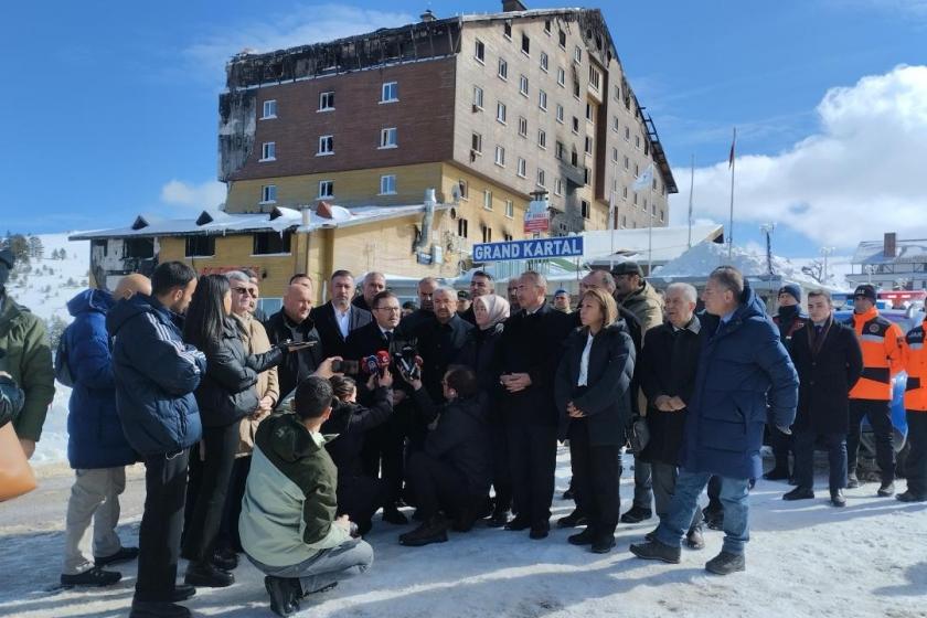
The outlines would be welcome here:
M 57 317 L 71 322 L 67 301 L 86 287 L 90 262 L 89 241 L 67 239 L 64 234 L 41 234 L 44 247 L 42 259 L 32 259 L 32 271 L 7 285 L 7 291 L 20 305 L 28 307 L 43 320 Z M 52 252 L 64 249 L 66 259 L 51 259 Z M 75 285 L 68 285 L 68 281 Z M 84 283 L 85 286 L 81 286 Z M 67 457 L 67 401 L 71 388 L 55 384 L 55 399 L 49 411 L 42 438 L 35 445 L 32 462 L 39 466 L 64 461 Z

